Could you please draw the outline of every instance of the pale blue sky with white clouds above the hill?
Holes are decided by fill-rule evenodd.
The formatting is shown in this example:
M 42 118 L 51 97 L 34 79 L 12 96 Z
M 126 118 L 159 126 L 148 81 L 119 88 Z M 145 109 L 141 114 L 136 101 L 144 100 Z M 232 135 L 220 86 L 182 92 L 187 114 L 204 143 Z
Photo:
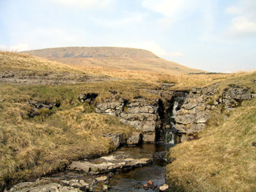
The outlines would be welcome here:
M 256 0 L 0 0 L 0 50 L 147 49 L 209 72 L 256 69 Z

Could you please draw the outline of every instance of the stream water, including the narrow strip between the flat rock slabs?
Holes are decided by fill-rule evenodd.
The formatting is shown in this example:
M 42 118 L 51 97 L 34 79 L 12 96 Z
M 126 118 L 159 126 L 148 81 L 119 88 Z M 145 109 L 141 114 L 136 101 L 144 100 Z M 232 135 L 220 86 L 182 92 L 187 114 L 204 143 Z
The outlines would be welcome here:
M 155 189 L 148 188 L 147 191 L 159 191 L 159 187 L 165 183 L 164 168 L 166 161 L 164 159 L 166 152 L 174 145 L 171 143 L 156 143 L 156 144 L 141 144 L 137 147 L 121 147 L 118 152 L 125 152 L 134 159 L 148 158 L 153 159 L 153 163 L 147 166 L 134 168 L 132 170 L 122 171 L 115 174 L 106 174 L 109 181 L 108 191 L 145 191 L 143 185 L 149 180 L 154 182 Z M 86 175 L 83 172 L 74 172 L 66 170 L 65 172 L 56 173 L 51 175 L 56 179 L 77 179 L 88 180 L 96 179 L 100 175 Z M 106 182 L 105 182 L 106 184 Z M 93 191 L 102 191 L 102 183 L 98 183 Z

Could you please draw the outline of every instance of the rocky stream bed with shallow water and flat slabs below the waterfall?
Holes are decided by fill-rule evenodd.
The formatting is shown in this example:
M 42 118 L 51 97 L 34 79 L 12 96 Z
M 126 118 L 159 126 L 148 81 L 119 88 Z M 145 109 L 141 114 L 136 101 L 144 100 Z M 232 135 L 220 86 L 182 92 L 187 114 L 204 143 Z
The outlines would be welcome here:
M 115 172 L 109 171 L 109 167 L 106 169 L 108 172 L 104 170 L 104 173 L 65 170 L 36 181 L 22 182 L 13 186 L 10 191 L 145 191 L 143 186 L 150 180 L 154 184 L 147 188 L 147 191 L 159 191 L 159 187 L 165 183 L 164 158 L 170 147 L 173 147 L 173 144 L 156 143 L 121 147 L 109 156 L 86 161 L 88 164 L 94 163 L 93 165 L 98 166 L 102 164 L 102 159 L 112 159 L 113 163 L 113 157 L 118 157 L 119 159 L 114 160 L 118 161 L 118 164 L 123 163 L 124 166 L 118 167 Z M 140 164 L 141 159 L 144 159 L 144 164 Z M 111 162 L 106 161 L 103 164 L 111 164 Z M 84 164 L 82 167 L 84 168 Z

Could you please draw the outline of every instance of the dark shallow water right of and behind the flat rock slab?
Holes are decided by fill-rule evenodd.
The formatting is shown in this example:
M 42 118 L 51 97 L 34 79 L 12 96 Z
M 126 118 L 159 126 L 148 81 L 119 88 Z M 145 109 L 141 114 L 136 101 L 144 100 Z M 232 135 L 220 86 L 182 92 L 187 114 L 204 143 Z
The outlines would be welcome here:
M 134 157 L 152 157 L 156 152 L 163 152 L 173 145 L 166 143 L 144 144 L 133 148 L 120 148 L 125 152 L 131 152 Z M 155 186 L 164 184 L 164 166 L 163 159 L 154 159 L 154 163 L 149 166 L 135 168 L 126 173 L 115 174 L 110 180 L 109 191 L 145 191 L 143 185 L 152 180 Z M 154 191 L 148 189 L 148 191 Z M 157 191 L 157 190 L 156 190 Z

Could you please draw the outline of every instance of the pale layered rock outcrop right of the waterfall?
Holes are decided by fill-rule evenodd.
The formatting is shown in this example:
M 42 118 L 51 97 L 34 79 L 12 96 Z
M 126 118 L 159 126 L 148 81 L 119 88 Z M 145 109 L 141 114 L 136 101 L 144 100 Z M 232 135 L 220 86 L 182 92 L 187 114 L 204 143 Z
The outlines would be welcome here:
M 193 134 L 205 128 L 210 118 L 210 111 L 223 105 L 226 111 L 239 106 L 243 100 L 252 99 L 253 95 L 248 88 L 230 84 L 222 95 L 216 97 L 216 86 L 208 88 L 194 88 L 189 92 L 177 115 L 175 129 L 180 134 L 179 141 L 193 139 Z M 178 141 L 178 142 L 179 142 Z

